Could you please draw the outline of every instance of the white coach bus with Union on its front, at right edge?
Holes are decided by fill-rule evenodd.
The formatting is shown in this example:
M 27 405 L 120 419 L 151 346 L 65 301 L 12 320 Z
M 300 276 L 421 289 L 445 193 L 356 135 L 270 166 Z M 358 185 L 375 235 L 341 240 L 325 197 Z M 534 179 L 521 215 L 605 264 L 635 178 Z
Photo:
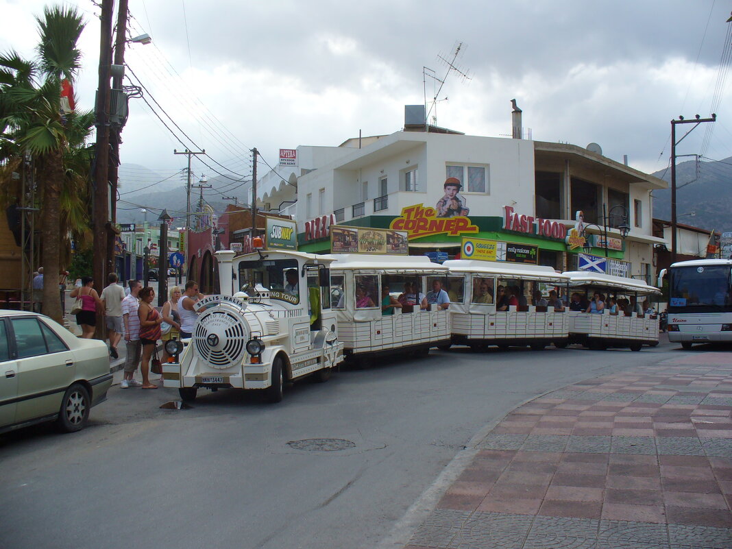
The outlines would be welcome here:
M 659 285 L 666 275 L 662 269 Z M 732 259 L 679 261 L 668 268 L 668 340 L 732 342 Z

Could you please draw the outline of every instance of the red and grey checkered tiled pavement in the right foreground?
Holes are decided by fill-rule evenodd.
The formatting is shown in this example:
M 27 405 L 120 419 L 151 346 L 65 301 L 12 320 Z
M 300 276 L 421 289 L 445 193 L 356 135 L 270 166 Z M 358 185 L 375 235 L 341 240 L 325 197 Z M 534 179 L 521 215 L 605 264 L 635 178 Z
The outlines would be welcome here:
M 408 549 L 732 549 L 732 353 L 567 386 L 480 449 Z

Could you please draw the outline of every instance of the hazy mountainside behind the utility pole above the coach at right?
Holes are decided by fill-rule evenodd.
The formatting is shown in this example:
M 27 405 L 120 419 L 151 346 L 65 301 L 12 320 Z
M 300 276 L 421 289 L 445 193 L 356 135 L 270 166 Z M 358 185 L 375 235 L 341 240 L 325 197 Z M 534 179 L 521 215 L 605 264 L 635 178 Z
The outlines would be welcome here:
M 671 182 L 671 168 L 653 175 Z M 655 190 L 653 197 L 653 216 L 671 220 L 671 189 Z M 679 223 L 710 231 L 732 231 L 731 212 L 732 157 L 698 165 L 695 160 L 676 164 L 676 216 Z

